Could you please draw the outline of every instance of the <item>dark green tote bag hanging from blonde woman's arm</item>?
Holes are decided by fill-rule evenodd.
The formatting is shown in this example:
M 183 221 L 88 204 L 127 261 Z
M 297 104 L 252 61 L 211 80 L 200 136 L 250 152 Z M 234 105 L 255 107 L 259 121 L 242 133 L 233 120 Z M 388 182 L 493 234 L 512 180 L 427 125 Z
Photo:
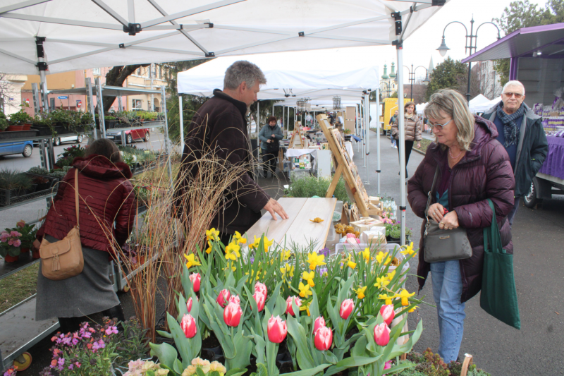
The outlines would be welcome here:
M 484 270 L 480 307 L 505 324 L 521 329 L 513 276 L 513 255 L 506 253 L 501 246 L 496 210 L 490 199 L 488 202 L 494 217 L 491 219 L 491 226 L 484 228 Z

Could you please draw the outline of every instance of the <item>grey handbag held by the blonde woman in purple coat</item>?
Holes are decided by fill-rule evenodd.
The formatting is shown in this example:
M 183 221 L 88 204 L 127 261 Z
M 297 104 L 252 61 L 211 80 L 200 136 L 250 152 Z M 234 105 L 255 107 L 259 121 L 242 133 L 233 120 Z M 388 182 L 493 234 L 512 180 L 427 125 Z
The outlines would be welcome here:
M 427 208 L 425 209 L 425 232 L 423 234 L 423 256 L 425 262 L 441 262 L 449 260 L 464 260 L 472 257 L 472 246 L 466 235 L 466 229 L 445 230 L 439 229 L 439 224 L 429 220 L 429 205 L 431 195 L 435 189 L 436 176 L 439 174 L 439 165 L 436 166 L 433 186 L 427 194 Z

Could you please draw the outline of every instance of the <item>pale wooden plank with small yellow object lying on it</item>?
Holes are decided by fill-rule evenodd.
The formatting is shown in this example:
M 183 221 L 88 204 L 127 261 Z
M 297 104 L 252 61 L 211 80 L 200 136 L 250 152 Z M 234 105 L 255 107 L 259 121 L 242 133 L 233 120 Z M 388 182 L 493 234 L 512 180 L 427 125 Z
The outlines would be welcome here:
M 288 229 L 286 244 L 294 243 L 300 248 L 305 248 L 312 241 L 317 241 L 314 249 L 324 248 L 336 203 L 336 198 L 308 198 L 300 214 Z M 324 221 L 314 223 L 310 220 L 316 217 Z

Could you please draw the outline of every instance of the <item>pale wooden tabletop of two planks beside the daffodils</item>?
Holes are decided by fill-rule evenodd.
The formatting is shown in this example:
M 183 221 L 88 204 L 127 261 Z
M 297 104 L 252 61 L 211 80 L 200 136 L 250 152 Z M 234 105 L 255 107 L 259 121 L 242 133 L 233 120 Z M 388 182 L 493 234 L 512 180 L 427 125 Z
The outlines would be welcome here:
M 278 203 L 282 205 L 288 219 L 277 217 L 275 221 L 269 212 L 266 212 L 247 231 L 247 238 L 253 241 L 265 234 L 267 238 L 274 239 L 280 245 L 290 248 L 297 245 L 306 248 L 312 242 L 316 243 L 314 250 L 324 248 L 329 226 L 332 224 L 333 211 L 337 203 L 336 198 L 281 198 Z M 319 217 L 323 222 L 314 223 L 310 219 Z

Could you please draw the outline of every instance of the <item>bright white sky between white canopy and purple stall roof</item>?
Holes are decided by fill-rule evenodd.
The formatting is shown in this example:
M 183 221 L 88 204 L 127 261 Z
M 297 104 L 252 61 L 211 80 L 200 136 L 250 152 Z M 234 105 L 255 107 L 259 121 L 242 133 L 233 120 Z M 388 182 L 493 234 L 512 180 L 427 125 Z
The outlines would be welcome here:
M 509 6 L 511 0 L 450 0 L 443 8 L 434 14 L 421 28 L 413 33 L 403 43 L 403 65 L 429 67 L 431 56 L 434 66 L 441 63 L 450 56 L 452 59 L 464 59 L 468 56 L 465 53 L 465 29 L 459 23 L 453 23 L 446 28 L 445 43 L 450 50 L 446 56 L 442 57 L 436 49 L 441 45 L 441 37 L 445 26 L 451 21 L 464 23 L 470 32 L 470 20 L 474 16 L 474 35 L 476 28 L 484 23 L 491 22 L 492 18 L 499 18 L 503 9 Z M 544 6 L 546 0 L 529 0 L 532 4 Z M 501 29 L 500 29 L 501 30 Z M 501 30 L 501 37 L 503 37 Z M 497 29 L 494 25 L 486 24 L 479 29 L 477 34 L 478 51 L 497 40 Z M 384 73 L 384 63 L 388 65 L 393 60 L 398 64 L 396 47 L 362 47 L 374 49 L 374 63 L 379 66 L 380 75 Z M 407 80 L 407 68 L 403 68 L 405 73 L 404 83 Z M 419 68 L 416 71 L 416 78 L 424 78 L 425 70 Z

